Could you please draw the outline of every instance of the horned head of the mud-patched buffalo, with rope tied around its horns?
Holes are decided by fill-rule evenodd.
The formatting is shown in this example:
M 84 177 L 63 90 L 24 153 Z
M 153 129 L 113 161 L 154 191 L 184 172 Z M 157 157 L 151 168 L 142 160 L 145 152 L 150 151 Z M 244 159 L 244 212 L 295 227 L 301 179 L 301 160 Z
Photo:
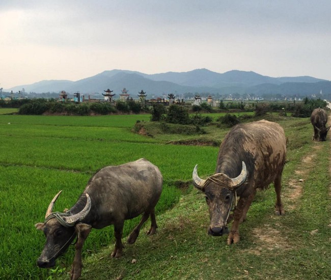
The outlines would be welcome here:
M 235 197 L 235 190 L 246 179 L 246 165 L 242 162 L 241 173 L 236 178 L 230 178 L 226 174 L 217 173 L 208 177 L 206 180 L 199 178 L 197 166 L 194 168 L 192 179 L 194 186 L 201 190 L 206 197 L 210 216 L 208 234 L 213 236 L 228 234 L 227 221 Z

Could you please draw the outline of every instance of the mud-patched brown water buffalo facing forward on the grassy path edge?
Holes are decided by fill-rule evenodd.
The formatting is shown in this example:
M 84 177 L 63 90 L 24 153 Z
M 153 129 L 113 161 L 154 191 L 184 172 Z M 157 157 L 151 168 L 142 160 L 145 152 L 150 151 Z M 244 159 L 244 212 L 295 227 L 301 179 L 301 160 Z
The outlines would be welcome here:
M 284 214 L 281 202 L 281 179 L 286 155 L 283 128 L 265 120 L 239 124 L 220 145 L 216 172 L 203 180 L 197 166 L 193 171 L 194 186 L 204 192 L 209 209 L 208 233 L 228 234 L 230 211 L 234 204 L 233 225 L 227 243 L 239 241 L 239 223 L 245 220 L 258 188 L 271 182 L 277 193 L 275 211 Z M 237 204 L 237 196 L 240 197 Z M 231 215 L 232 216 L 232 215 Z

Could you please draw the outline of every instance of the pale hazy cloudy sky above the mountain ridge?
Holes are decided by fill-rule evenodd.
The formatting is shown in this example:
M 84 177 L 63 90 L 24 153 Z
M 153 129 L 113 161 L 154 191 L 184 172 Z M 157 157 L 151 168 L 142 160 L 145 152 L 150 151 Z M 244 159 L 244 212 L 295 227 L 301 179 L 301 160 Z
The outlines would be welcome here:
M 4 0 L 0 87 L 198 68 L 331 80 L 330 0 Z

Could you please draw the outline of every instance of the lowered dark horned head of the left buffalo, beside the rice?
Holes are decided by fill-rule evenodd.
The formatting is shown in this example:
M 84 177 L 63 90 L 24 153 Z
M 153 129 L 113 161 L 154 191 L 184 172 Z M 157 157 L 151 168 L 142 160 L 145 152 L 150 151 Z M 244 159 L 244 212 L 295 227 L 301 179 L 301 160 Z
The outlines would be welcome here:
M 56 259 L 66 251 L 77 236 L 77 223 L 84 219 L 91 209 L 91 199 L 89 194 L 86 193 L 86 205 L 77 214 L 52 212 L 53 205 L 60 193 L 61 191 L 50 202 L 45 221 L 35 225 L 36 229 L 43 231 L 46 237 L 46 244 L 37 261 L 37 265 L 41 268 L 49 268 L 55 265 Z

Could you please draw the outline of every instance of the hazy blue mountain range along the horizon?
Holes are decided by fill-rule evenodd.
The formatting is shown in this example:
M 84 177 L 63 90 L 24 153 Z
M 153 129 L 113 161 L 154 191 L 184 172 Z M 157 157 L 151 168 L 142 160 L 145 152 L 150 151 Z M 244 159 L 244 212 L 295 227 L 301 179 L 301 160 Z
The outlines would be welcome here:
M 99 95 L 106 89 L 111 89 L 117 96 L 123 88 L 137 98 L 136 95 L 144 90 L 149 98 L 163 96 L 169 93 L 184 95 L 195 94 L 281 94 L 307 96 L 319 94 L 331 95 L 331 81 L 310 76 L 298 77 L 269 77 L 255 72 L 232 70 L 216 73 L 207 69 L 196 69 L 188 72 L 167 72 L 159 74 L 144 74 L 129 70 L 110 70 L 85 79 L 43 80 L 31 85 L 21 85 L 4 92 L 22 91 L 25 93 L 59 93 Z

